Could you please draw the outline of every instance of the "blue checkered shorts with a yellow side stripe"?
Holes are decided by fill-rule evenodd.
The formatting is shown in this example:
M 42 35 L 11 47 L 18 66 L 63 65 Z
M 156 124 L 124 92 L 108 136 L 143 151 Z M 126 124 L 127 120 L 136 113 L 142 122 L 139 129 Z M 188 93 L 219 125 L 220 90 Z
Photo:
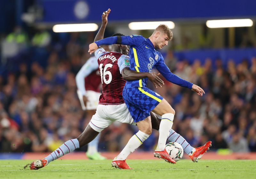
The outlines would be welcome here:
M 123 98 L 136 123 L 150 116 L 149 112 L 163 100 L 162 96 L 144 87 L 124 87 Z

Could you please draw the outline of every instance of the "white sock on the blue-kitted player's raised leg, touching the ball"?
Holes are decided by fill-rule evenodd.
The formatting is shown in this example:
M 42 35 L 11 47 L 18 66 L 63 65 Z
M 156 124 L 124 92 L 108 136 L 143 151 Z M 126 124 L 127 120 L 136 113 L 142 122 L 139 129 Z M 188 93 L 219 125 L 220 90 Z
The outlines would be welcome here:
M 165 148 L 166 140 L 169 137 L 172 129 L 174 114 L 166 113 L 162 116 L 162 120 L 159 126 L 159 139 L 156 147 L 156 151 L 163 151 Z

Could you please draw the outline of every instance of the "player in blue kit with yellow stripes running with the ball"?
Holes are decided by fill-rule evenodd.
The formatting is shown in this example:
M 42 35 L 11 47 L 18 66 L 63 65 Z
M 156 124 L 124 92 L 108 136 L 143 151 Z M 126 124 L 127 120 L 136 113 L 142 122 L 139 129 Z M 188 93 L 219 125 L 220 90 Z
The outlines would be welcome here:
M 168 45 L 172 40 L 172 31 L 168 26 L 159 25 L 153 34 L 147 39 L 140 35 L 114 36 L 95 41 L 89 45 L 90 54 L 92 54 L 100 45 L 123 44 L 130 45 L 130 69 L 138 72 L 151 72 L 153 67 L 166 78 L 168 81 L 183 87 L 187 87 L 198 95 L 203 96 L 204 90 L 180 77 L 174 75 L 167 65 L 164 58 L 155 48 L 161 49 Z M 152 132 L 150 111 L 162 116 L 159 126 L 159 139 L 154 156 L 162 158 L 167 162 L 176 163 L 165 150 L 166 139 L 172 129 L 173 118 L 175 115 L 171 105 L 159 94 L 147 88 L 148 78 L 135 81 L 127 81 L 123 90 L 124 101 L 137 123 L 139 130 L 146 134 L 143 141 L 147 139 Z M 135 142 L 137 140 L 137 142 Z M 125 147 L 138 148 L 143 141 L 140 138 L 131 138 Z M 210 144 L 209 144 L 210 145 Z M 117 156 L 122 158 L 122 152 Z

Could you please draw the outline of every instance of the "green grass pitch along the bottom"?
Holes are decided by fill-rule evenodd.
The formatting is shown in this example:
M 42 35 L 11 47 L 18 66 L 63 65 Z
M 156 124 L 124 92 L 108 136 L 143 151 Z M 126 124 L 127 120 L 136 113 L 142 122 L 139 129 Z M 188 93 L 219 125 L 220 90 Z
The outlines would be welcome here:
M 10 179 L 255 179 L 256 160 L 127 160 L 134 170 L 111 167 L 111 160 L 56 160 L 39 170 L 24 169 L 31 160 L 0 160 L 0 178 Z

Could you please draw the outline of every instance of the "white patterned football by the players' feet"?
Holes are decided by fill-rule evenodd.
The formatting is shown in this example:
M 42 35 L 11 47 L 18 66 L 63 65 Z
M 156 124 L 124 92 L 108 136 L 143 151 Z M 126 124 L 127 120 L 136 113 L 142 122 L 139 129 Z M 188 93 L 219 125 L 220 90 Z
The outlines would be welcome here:
M 173 160 L 179 161 L 183 156 L 183 148 L 177 142 L 170 142 L 165 145 L 166 151 L 172 157 Z

